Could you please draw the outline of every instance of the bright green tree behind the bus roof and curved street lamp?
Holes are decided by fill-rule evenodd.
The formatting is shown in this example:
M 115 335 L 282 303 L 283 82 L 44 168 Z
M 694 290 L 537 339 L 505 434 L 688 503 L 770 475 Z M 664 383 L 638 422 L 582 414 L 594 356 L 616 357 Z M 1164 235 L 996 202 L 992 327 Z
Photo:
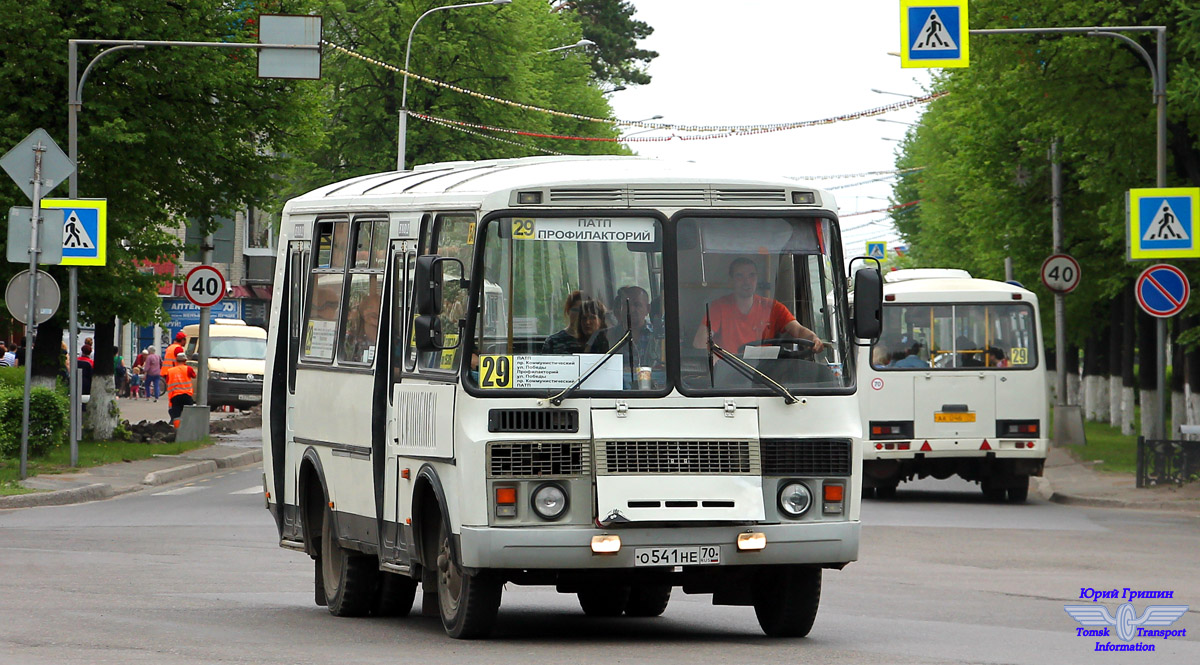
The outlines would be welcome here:
M 325 37 L 341 47 L 384 62 L 366 62 L 326 49 L 324 83 L 329 90 L 330 143 L 317 157 L 306 185 L 396 164 L 396 131 L 406 43 L 413 22 L 432 0 L 400 6 L 373 0 L 346 0 L 326 11 Z M 577 52 L 545 53 L 574 43 L 581 25 L 572 12 L 551 12 L 547 5 L 517 0 L 504 7 L 472 7 L 437 12 L 413 32 L 409 70 L 481 95 L 572 114 L 610 118 L 604 95 L 590 85 L 586 58 Z M 527 134 L 613 138 L 616 130 L 572 118 L 539 113 L 449 90 L 419 79 L 408 82 L 407 158 L 410 164 L 536 155 L 545 150 L 571 154 L 617 154 L 616 143 L 565 142 Z M 418 115 L 504 127 L 497 133 L 432 124 Z M 486 136 L 480 136 L 486 134 Z M 497 138 L 503 140 L 497 140 Z

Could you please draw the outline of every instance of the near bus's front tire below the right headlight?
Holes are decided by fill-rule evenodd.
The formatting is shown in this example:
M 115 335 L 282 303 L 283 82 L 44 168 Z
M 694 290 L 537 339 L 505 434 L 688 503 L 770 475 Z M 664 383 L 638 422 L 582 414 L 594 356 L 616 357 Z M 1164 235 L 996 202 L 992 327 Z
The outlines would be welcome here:
M 821 569 L 785 565 L 763 569 L 754 587 L 754 613 L 770 637 L 804 637 L 821 605 Z

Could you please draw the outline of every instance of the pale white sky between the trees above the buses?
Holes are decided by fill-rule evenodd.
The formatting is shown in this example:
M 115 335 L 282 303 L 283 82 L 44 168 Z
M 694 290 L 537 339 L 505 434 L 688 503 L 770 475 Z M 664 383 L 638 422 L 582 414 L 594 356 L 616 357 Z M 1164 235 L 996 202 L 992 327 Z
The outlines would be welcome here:
M 818 120 L 922 95 L 929 70 L 901 68 L 898 0 L 630 0 L 634 18 L 654 34 L 640 46 L 659 52 L 648 85 L 611 92 L 622 120 L 662 115 L 659 122 L 745 125 Z M 876 118 L 760 136 L 712 140 L 628 143 L 640 155 L 751 166 L 788 176 L 848 175 L 895 169 L 899 143 L 918 106 Z M 637 131 L 628 130 L 625 134 Z M 632 138 L 670 136 L 655 131 Z M 899 235 L 886 214 L 893 179 L 810 180 L 833 190 L 847 256 L 870 240 Z M 846 185 L 854 185 L 844 187 Z M 844 188 L 842 188 L 844 187 Z

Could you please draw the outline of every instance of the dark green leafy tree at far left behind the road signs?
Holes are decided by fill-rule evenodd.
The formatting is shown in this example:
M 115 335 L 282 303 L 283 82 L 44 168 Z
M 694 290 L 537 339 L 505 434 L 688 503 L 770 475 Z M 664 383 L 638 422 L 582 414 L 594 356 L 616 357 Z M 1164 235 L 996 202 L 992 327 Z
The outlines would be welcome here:
M 0 62 L 0 138 L 12 144 L 44 127 L 64 146 L 68 38 L 254 41 L 250 19 L 259 12 L 226 0 L 0 0 L 0 38 L 8 44 Z M 306 8 L 270 2 L 275 12 Z M 98 52 L 80 48 L 80 73 Z M 140 272 L 139 263 L 175 259 L 180 246 L 170 229 L 188 215 L 232 215 L 250 202 L 274 200 L 302 166 L 298 156 L 323 138 L 318 90 L 312 82 L 258 79 L 256 59 L 245 52 L 151 47 L 102 60 L 83 90 L 78 169 L 79 196 L 108 199 L 108 265 L 79 269 L 80 318 L 97 330 L 114 317 L 161 320 L 162 278 Z M 12 186 L 2 192 L 10 204 L 23 198 Z M 54 193 L 67 194 L 65 187 Z M 66 283 L 65 269 L 50 272 Z M 65 318 L 62 307 L 42 326 L 40 373 L 60 371 Z M 112 345 L 96 349 L 89 414 L 100 438 L 114 424 L 112 352 Z

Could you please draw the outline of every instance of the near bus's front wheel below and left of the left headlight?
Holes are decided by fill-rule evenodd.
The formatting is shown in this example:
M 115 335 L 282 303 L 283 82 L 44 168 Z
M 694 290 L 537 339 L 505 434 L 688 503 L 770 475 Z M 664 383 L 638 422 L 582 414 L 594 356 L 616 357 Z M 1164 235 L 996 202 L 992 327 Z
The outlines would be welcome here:
M 456 640 L 487 637 L 500 610 L 502 585 L 486 573 L 468 574 L 450 545 L 450 529 L 438 520 L 438 609 L 446 635 Z

